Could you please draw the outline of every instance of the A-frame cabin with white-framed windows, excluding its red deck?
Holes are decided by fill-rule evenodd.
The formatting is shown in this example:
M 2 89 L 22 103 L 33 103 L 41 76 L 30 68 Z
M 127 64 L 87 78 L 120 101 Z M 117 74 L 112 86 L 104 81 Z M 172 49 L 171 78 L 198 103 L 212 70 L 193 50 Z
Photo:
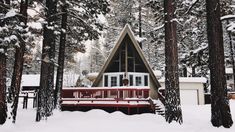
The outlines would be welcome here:
M 127 80 L 127 81 L 126 81 Z M 127 84 L 125 84 L 128 82 Z M 93 87 L 145 87 L 157 98 L 160 87 L 130 26 L 123 28 Z

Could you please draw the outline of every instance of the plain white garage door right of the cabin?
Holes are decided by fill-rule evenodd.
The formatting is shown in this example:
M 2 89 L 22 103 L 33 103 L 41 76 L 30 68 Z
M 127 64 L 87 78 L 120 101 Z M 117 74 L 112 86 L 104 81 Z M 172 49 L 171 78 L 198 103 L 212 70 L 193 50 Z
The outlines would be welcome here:
M 180 90 L 180 99 L 182 105 L 198 105 L 197 90 Z

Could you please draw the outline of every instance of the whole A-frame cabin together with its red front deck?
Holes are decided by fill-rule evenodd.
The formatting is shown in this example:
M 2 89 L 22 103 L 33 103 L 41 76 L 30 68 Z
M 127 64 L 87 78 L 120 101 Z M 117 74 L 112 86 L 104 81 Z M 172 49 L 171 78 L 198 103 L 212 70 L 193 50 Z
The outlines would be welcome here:
M 155 112 L 160 87 L 127 24 L 92 87 L 63 88 L 62 110 L 100 108 L 126 114 Z

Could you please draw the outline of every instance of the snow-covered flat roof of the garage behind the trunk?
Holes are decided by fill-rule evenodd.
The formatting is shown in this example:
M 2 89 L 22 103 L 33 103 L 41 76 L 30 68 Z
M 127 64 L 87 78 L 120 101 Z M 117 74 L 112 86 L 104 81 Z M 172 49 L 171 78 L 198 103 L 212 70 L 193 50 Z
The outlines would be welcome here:
M 159 82 L 165 82 L 165 78 L 158 80 Z M 193 83 L 206 83 L 207 79 L 205 77 L 179 77 L 179 82 L 193 82 Z

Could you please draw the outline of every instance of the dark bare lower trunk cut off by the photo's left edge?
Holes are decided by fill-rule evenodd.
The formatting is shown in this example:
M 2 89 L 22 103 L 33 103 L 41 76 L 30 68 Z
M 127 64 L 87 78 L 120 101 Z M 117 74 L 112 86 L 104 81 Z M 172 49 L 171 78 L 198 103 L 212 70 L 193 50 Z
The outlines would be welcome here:
M 5 51 L 6 49 L 0 46 L 0 124 L 4 124 L 7 118 Z

